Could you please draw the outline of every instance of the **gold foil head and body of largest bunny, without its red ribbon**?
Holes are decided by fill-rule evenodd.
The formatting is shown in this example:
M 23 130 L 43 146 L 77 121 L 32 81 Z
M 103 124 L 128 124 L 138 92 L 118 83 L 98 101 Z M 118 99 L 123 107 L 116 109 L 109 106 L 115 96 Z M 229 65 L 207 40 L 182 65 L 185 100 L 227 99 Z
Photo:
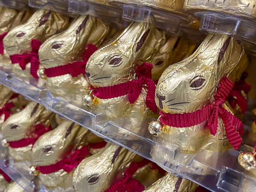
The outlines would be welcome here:
M 214 103 L 216 88 L 244 55 L 236 39 L 209 34 L 190 57 L 169 66 L 158 81 L 155 101 L 163 113 L 182 114 L 198 111 Z M 160 120 L 161 121 L 160 117 Z M 210 134 L 206 121 L 192 127 L 163 125 L 161 137 L 178 145 L 183 153 L 196 153 L 201 148 L 224 151 L 232 145 L 227 141 L 224 124 L 218 119 L 218 134 Z M 179 140 L 174 138 L 186 138 Z M 199 139 L 190 145 L 188 140 Z

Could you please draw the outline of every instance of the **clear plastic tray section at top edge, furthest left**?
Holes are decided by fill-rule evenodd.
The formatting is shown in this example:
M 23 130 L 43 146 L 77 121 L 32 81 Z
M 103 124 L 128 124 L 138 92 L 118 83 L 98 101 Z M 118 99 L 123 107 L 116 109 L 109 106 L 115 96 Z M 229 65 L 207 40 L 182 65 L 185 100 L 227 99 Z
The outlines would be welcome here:
M 68 0 L 29 0 L 29 6 L 59 12 L 68 17 L 78 16 L 77 14 L 68 12 Z

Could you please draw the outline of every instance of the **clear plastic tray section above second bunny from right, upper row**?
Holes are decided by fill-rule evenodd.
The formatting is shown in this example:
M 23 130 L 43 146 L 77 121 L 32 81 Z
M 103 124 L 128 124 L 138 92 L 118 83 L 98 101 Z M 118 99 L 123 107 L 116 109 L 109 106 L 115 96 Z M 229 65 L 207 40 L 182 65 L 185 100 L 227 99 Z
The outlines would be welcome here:
M 164 12 L 151 7 L 143 7 L 135 4 L 112 2 L 123 9 L 122 17 L 126 20 L 149 23 L 166 31 L 169 35 L 180 35 L 180 24 L 189 23 L 191 17 L 185 14 Z

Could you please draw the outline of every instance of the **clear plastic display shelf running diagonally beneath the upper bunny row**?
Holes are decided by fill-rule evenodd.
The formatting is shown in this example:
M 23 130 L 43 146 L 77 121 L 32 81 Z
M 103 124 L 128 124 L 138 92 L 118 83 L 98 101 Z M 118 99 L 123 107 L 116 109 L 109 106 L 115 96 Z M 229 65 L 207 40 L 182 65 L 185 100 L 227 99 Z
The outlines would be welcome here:
M 52 96 L 44 85 L 38 86 L 37 79 L 19 79 L 3 70 L 0 70 L 0 83 L 60 116 L 90 129 L 105 140 L 121 145 L 154 161 L 172 174 L 192 180 L 211 191 L 256 191 L 256 176 L 237 162 L 239 151 L 200 150 L 198 154 L 183 154 L 178 146 L 165 146 L 162 138 L 148 133 L 148 123 L 152 119 L 122 117 L 108 121 L 102 113 L 96 113 L 94 109 Z M 247 148 L 249 149 L 252 150 Z

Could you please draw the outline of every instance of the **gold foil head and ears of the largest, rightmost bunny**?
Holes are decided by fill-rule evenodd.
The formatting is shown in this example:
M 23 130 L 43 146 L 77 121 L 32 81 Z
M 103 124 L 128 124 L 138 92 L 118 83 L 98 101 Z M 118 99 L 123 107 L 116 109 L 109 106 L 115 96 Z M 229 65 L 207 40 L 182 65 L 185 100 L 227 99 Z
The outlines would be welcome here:
M 164 113 L 191 113 L 213 103 L 222 77 L 243 55 L 236 39 L 209 34 L 193 55 L 163 72 L 155 93 L 157 107 Z

